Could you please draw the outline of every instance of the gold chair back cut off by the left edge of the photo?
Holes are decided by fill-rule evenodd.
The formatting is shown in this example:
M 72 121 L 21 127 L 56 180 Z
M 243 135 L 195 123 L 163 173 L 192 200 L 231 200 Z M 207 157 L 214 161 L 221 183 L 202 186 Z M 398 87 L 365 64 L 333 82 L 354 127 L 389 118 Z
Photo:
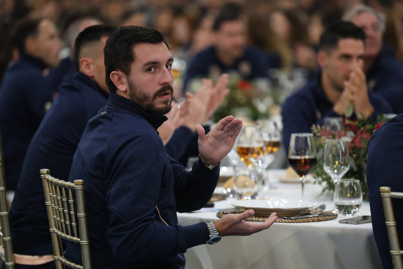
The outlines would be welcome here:
M 0 235 L 3 241 L 4 248 L 4 256 L 0 255 L 0 257 L 4 261 L 6 268 L 15 268 L 14 251 L 12 250 L 11 242 L 10 220 L 8 219 L 6 183 L 4 180 L 2 158 L 0 158 L 0 225 Z

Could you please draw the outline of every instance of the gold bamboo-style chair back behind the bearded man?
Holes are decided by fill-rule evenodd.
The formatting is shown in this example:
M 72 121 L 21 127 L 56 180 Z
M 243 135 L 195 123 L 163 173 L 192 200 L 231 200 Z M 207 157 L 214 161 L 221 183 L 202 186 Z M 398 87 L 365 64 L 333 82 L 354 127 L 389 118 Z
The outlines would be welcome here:
M 56 179 L 50 175 L 49 169 L 41 169 L 40 173 L 56 269 L 64 269 L 65 265 L 75 269 L 90 269 L 91 257 L 85 213 L 84 181 L 77 179 L 71 183 Z M 77 202 L 72 190 L 75 190 Z M 77 213 L 75 209 L 77 209 Z M 83 265 L 73 263 L 63 256 L 61 239 L 80 244 Z

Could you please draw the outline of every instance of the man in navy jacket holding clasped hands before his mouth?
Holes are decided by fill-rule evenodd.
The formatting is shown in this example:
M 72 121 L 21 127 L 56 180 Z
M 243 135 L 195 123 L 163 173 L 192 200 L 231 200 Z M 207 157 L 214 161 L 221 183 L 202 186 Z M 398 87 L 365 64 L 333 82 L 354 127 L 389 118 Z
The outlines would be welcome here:
M 347 21 L 331 25 L 322 34 L 318 52 L 321 71 L 282 107 L 286 149 L 291 133 L 310 133 L 312 124 L 323 125 L 325 117 L 343 117 L 346 109 L 353 108 L 352 119 L 391 113 L 388 102 L 367 89 L 362 71 L 364 40 L 364 30 Z

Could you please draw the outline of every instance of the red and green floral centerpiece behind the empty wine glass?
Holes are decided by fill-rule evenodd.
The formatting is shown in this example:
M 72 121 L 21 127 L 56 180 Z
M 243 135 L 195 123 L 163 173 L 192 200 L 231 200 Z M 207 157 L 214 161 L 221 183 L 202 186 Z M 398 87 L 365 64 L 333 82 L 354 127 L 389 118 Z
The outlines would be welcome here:
M 318 163 L 312 170 L 315 177 L 315 184 L 322 184 L 322 194 L 326 191 L 334 191 L 334 183 L 330 176 L 323 169 L 323 153 L 326 139 L 339 138 L 349 142 L 350 169 L 343 178 L 359 179 L 361 181 L 362 194 L 368 198 L 368 186 L 366 183 L 367 171 L 367 146 L 372 133 L 383 123 L 388 121 L 384 115 L 379 115 L 376 121 L 366 119 L 349 118 L 343 120 L 342 129 L 336 134 L 334 131 L 325 129 L 320 125 L 312 125 L 312 132 L 315 135 L 316 147 L 318 149 Z

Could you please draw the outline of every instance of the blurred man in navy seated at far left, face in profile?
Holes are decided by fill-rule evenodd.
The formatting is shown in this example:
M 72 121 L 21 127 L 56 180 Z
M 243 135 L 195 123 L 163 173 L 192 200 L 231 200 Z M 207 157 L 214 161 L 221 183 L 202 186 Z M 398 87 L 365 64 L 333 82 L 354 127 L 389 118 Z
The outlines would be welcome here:
M 58 66 L 62 43 L 48 19 L 21 21 L 12 37 L 17 63 L 7 69 L 0 87 L 0 130 L 7 188 L 14 190 L 29 142 L 53 100 L 43 71 Z

